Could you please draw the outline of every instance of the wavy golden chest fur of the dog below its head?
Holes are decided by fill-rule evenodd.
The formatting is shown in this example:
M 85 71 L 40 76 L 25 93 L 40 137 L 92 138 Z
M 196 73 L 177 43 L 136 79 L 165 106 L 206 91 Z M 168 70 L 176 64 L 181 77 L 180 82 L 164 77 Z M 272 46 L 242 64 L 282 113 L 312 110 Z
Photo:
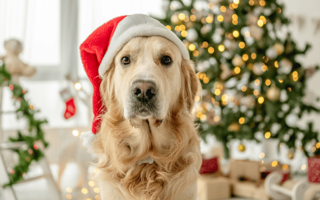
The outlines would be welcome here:
M 103 154 L 98 163 L 104 175 L 100 182 L 110 182 L 124 199 L 173 199 L 180 190 L 183 193 L 182 188 L 177 188 L 179 181 L 196 181 L 197 163 L 201 163 L 193 121 L 185 115 L 166 120 L 158 127 L 152 119 L 139 123 L 132 127 L 132 123 L 122 121 L 109 126 L 112 129 L 103 129 L 102 124 L 101 130 L 105 131 L 96 140 L 101 142 Z M 148 156 L 153 164 L 137 164 Z M 183 184 L 188 188 L 188 183 Z M 176 191 L 168 192 L 169 188 Z

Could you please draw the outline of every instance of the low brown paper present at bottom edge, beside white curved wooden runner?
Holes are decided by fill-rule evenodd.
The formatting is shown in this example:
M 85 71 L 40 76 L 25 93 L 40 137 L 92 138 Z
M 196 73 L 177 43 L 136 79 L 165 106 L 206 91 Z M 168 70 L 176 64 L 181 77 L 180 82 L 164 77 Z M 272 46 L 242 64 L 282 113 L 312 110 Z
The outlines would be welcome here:
M 257 184 L 250 181 L 232 180 L 232 194 L 235 196 L 242 196 L 247 198 L 269 200 L 264 189 L 264 184 Z

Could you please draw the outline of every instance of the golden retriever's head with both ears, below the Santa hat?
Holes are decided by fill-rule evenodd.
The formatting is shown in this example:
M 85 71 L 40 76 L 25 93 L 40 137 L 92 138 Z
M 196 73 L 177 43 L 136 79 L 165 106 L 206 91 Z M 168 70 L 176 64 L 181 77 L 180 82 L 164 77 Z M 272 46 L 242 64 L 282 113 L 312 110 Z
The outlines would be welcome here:
M 107 109 L 116 103 L 124 118 L 165 119 L 190 112 L 200 86 L 193 63 L 160 36 L 131 39 L 114 57 L 100 92 Z M 179 110 L 177 110 L 179 109 Z

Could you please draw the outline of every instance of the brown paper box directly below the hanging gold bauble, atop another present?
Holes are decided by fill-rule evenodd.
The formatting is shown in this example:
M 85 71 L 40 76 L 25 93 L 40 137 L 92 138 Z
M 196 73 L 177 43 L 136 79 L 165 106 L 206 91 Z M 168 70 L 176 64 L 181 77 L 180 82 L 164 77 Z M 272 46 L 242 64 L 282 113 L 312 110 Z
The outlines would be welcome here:
M 261 162 L 250 160 L 231 160 L 230 161 L 230 178 L 233 180 L 239 180 L 243 178 L 245 180 L 256 181 L 260 183 Z

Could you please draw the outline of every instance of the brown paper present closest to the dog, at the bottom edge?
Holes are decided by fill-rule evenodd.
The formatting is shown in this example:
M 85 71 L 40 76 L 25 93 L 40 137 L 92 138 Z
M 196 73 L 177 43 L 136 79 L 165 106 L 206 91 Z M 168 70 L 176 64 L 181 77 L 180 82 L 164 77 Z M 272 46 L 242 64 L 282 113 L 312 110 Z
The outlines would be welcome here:
M 201 175 L 198 179 L 198 200 L 215 200 L 230 198 L 229 179 L 217 173 Z

